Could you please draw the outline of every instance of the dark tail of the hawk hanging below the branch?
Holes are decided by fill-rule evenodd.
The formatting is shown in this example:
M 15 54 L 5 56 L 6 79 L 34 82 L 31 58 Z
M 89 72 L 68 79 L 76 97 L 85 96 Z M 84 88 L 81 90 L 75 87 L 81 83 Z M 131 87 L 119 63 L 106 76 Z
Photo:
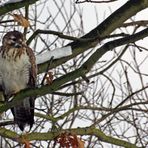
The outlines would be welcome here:
M 11 108 L 14 116 L 14 122 L 23 131 L 26 125 L 30 129 L 34 123 L 34 98 L 29 97 L 23 100 L 19 105 Z

